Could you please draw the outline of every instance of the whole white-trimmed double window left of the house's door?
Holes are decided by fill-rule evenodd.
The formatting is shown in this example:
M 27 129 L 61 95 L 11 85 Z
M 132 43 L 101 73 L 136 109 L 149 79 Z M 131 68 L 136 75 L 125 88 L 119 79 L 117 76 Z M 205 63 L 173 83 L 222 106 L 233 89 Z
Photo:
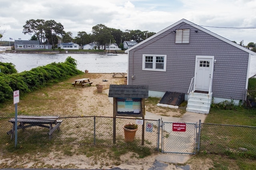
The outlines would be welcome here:
M 142 70 L 166 71 L 166 55 L 143 55 Z

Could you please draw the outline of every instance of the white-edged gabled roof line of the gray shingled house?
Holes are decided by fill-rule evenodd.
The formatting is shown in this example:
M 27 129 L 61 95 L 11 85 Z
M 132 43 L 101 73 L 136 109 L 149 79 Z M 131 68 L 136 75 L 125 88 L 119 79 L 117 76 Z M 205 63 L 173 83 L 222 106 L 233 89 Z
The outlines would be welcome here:
M 128 51 L 130 51 L 130 50 L 132 50 L 132 49 L 138 47 L 139 45 L 142 45 L 142 44 L 146 43 L 146 42 L 149 41 L 150 39 L 153 39 L 154 37 L 157 37 L 158 35 L 164 33 L 165 31 L 168 31 L 169 29 L 172 29 L 173 27 L 175 27 L 176 25 L 179 25 L 179 24 L 182 23 L 182 22 L 187 23 L 188 25 L 191 25 L 192 27 L 195 27 L 195 28 L 197 28 L 197 29 L 199 29 L 199 30 L 201 30 L 201 31 L 204 31 L 205 33 L 208 33 L 208 34 L 210 34 L 210 35 L 212 35 L 212 36 L 214 36 L 214 37 L 216 37 L 216 38 L 218 38 L 218 39 L 220 39 L 220 40 L 222 40 L 222 41 L 224 41 L 224 42 L 226 42 L 226 43 L 228 43 L 228 44 L 230 44 L 230 45 L 233 45 L 234 47 L 237 47 L 238 49 L 241 49 L 241 50 L 243 50 L 243 51 L 245 51 L 245 52 L 247 52 L 247 53 L 249 53 L 249 54 L 251 54 L 251 55 L 256 55 L 255 52 L 253 52 L 253 51 L 251 51 L 251 50 L 249 50 L 249 49 L 246 49 L 246 48 L 244 48 L 244 47 L 242 47 L 242 46 L 240 46 L 240 45 L 238 45 L 238 44 L 236 44 L 236 43 L 233 43 L 232 41 L 230 41 L 230 40 L 228 40 L 228 39 L 226 39 L 226 38 L 224 38 L 224 37 L 221 37 L 220 35 L 217 35 L 216 33 L 213 33 L 213 32 L 211 32 L 211 31 L 209 31 L 209 30 L 207 30 L 207 29 L 205 29 L 205 28 L 203 28 L 203 27 L 200 27 L 199 25 L 196 25 L 195 23 L 192 23 L 192 22 L 190 22 L 190 21 L 188 21 L 188 20 L 185 20 L 185 19 L 182 19 L 182 20 L 180 20 L 180 21 L 178 21 L 178 22 L 176 22 L 176 23 L 170 25 L 169 27 L 163 29 L 162 31 L 159 31 L 158 33 L 154 34 L 153 36 L 149 37 L 148 39 L 145 39 L 144 41 L 138 43 L 137 45 L 134 45 L 133 47 L 127 49 L 127 50 L 125 51 L 125 53 L 128 53 Z

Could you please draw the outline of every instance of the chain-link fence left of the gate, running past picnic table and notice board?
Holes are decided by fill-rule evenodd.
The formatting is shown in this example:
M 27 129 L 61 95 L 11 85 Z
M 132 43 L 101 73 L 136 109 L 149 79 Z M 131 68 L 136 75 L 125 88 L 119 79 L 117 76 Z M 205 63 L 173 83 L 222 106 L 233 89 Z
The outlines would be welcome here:
M 11 143 L 14 140 L 10 139 L 12 123 L 8 122 L 8 118 L 0 118 L 0 141 Z M 62 120 L 60 131 L 56 129 L 52 133 L 52 140 L 49 141 L 49 129 L 42 128 L 47 125 L 30 123 L 24 130 L 18 129 L 17 138 L 19 143 L 30 143 L 33 140 L 49 141 L 58 145 L 102 145 L 113 146 L 113 117 L 60 117 Z M 142 119 L 141 119 L 142 120 Z M 150 149 L 159 149 L 159 132 L 160 120 L 145 119 L 144 124 L 152 123 L 152 132 L 144 132 L 144 146 Z M 116 140 L 115 143 L 124 143 L 124 125 L 136 124 L 134 118 L 116 117 Z M 18 123 L 19 125 L 19 123 Z M 41 127 L 39 127 L 41 126 Z M 53 125 L 54 127 L 54 125 Z M 146 127 L 144 127 L 146 129 Z M 9 135 L 8 135 L 8 133 Z M 142 145 L 142 125 L 138 125 L 134 144 Z

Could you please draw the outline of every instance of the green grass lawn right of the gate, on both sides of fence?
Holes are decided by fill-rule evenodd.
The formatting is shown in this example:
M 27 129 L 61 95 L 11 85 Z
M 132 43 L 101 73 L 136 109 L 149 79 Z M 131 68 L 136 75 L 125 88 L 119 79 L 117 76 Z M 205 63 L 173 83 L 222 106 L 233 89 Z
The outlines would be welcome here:
M 256 78 L 250 78 L 248 84 L 248 90 L 256 90 Z M 232 107 L 222 107 L 222 105 L 213 105 L 210 113 L 207 115 L 204 123 L 216 123 L 216 124 L 227 124 L 227 125 L 240 125 L 240 126 L 253 126 L 256 127 L 256 109 L 245 109 L 242 106 L 232 106 Z M 252 133 L 248 133 L 248 129 L 246 128 L 238 128 L 240 131 L 235 131 L 236 127 L 227 127 L 228 133 L 234 130 L 234 136 L 240 134 L 239 137 L 244 136 L 246 139 L 252 139 L 252 141 L 244 141 L 244 145 L 247 142 L 256 146 L 256 132 L 255 128 Z M 208 130 L 208 129 L 207 129 Z M 222 133 L 222 134 L 221 134 Z M 218 129 L 214 129 L 211 131 L 212 139 L 216 139 L 217 136 L 222 136 L 222 138 L 218 139 L 225 140 L 225 136 L 228 135 L 223 134 L 225 132 L 219 131 Z M 210 133 L 209 133 L 210 134 Z M 233 137 L 234 137 L 233 136 Z M 204 136 L 201 136 L 201 140 Z M 232 141 L 236 139 L 232 138 Z M 214 140 L 212 140 L 214 141 Z M 201 143 L 202 144 L 202 143 Z M 223 143 L 222 143 L 223 144 Z M 235 145 L 235 144 L 234 144 Z M 214 142 L 210 143 L 208 147 L 214 147 Z M 222 146 L 223 147 L 223 146 Z M 215 150 L 218 147 L 214 148 Z M 224 148 L 227 149 L 227 148 Z M 244 152 L 239 152 L 238 154 L 233 154 L 232 152 L 225 152 L 219 154 L 211 154 L 207 153 L 204 150 L 200 150 L 201 152 L 196 156 L 192 157 L 188 163 L 193 162 L 207 162 L 212 164 L 212 168 L 209 170 L 255 170 L 256 169 L 256 153 L 250 152 L 249 154 L 244 154 Z M 255 150 L 254 150 L 255 151 Z M 208 160 L 208 161 L 206 161 Z

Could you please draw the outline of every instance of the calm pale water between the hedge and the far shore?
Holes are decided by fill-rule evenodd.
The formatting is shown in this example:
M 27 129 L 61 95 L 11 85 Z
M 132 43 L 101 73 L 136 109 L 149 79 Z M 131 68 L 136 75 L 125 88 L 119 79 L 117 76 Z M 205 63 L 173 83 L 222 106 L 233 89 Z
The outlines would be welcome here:
M 20 54 L 5 53 L 5 63 L 13 63 L 18 70 L 31 70 L 53 62 L 64 62 L 68 56 L 76 59 L 78 70 L 89 70 L 91 73 L 127 72 L 128 55 L 106 56 L 104 54 Z M 251 57 L 249 77 L 256 74 L 256 56 Z

